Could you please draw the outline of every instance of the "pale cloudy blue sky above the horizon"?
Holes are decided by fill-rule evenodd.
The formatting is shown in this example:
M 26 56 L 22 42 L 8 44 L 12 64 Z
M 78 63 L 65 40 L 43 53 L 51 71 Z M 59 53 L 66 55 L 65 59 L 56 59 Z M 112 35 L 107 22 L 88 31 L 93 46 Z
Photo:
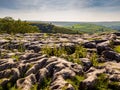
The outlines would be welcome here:
M 37 21 L 120 21 L 120 0 L 0 0 L 0 18 Z

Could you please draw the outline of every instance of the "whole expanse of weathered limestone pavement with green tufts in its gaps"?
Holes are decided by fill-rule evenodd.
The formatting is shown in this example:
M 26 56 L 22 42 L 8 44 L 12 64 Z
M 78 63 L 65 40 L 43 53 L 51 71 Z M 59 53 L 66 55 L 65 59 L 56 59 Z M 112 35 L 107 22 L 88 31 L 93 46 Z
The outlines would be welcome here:
M 119 36 L 1 34 L 0 89 L 96 90 L 102 82 L 104 90 L 119 90 Z

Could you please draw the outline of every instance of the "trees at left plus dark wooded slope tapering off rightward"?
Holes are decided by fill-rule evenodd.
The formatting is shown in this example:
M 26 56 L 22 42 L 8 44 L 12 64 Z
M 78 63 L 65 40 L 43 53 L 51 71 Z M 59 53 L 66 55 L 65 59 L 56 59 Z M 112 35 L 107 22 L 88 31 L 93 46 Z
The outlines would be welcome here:
M 14 20 L 12 17 L 0 18 L 0 33 L 64 33 L 64 34 L 76 34 L 78 32 L 67 29 L 64 27 L 58 27 L 50 23 L 33 23 L 27 21 L 21 21 L 20 19 Z

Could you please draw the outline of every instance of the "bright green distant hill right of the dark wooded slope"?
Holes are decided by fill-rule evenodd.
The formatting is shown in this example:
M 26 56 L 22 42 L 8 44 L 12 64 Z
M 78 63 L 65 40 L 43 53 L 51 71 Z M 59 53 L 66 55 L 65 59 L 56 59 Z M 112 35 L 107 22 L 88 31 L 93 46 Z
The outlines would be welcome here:
M 72 29 L 72 30 L 75 30 L 78 32 L 82 32 L 82 33 L 89 33 L 89 34 L 117 31 L 117 30 L 113 30 L 111 28 L 107 28 L 107 27 L 99 26 L 99 25 L 95 25 L 95 24 L 89 24 L 89 23 L 74 24 L 71 26 L 66 26 L 66 28 Z

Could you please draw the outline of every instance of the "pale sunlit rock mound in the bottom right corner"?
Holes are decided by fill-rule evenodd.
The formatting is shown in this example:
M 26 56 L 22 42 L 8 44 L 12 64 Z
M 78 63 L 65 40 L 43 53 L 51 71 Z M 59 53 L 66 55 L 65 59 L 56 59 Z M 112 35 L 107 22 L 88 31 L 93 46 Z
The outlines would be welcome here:
M 120 80 L 120 67 L 118 67 L 120 63 L 116 62 L 106 62 L 101 68 L 96 69 L 91 67 L 87 72 L 85 72 L 86 78 L 80 83 L 79 89 L 87 89 L 92 90 L 95 89 L 95 85 L 101 80 L 108 80 L 107 84 L 110 82 L 119 82 Z M 100 77 L 100 75 L 103 75 Z M 102 82 L 102 81 L 101 81 Z M 105 83 L 105 81 L 103 81 Z M 119 84 L 118 86 L 119 87 Z

